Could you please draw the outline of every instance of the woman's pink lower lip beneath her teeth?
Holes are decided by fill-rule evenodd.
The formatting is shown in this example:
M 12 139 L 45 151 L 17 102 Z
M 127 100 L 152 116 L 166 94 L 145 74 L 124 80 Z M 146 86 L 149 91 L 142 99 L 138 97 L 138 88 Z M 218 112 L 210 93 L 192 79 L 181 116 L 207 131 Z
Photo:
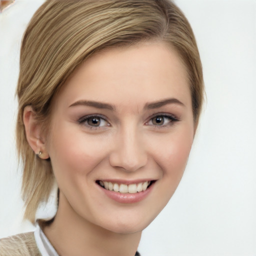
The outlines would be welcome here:
M 108 189 L 105 189 L 101 186 L 101 188 L 104 193 L 111 199 L 120 202 L 120 203 L 134 203 L 134 202 L 139 202 L 143 200 L 152 190 L 154 183 L 152 183 L 145 191 L 141 192 L 136 192 L 136 193 L 120 193 L 120 192 L 115 192 L 115 191 L 110 191 Z

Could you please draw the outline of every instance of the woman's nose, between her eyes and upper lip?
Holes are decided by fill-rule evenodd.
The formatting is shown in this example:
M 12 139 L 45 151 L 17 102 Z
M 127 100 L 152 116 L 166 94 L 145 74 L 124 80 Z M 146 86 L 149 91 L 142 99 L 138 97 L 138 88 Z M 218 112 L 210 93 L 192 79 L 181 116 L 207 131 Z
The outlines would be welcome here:
M 114 146 L 109 155 L 109 163 L 125 171 L 135 171 L 146 165 L 147 153 L 142 134 L 135 128 L 126 127 L 114 139 Z

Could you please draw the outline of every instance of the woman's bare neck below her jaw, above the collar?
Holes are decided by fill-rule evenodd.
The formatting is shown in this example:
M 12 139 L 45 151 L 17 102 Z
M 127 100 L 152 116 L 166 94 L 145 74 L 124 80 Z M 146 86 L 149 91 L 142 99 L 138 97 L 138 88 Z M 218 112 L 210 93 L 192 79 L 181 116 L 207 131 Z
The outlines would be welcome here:
M 59 255 L 135 255 L 141 231 L 115 233 L 87 221 L 66 204 L 59 201 L 54 221 L 43 228 Z

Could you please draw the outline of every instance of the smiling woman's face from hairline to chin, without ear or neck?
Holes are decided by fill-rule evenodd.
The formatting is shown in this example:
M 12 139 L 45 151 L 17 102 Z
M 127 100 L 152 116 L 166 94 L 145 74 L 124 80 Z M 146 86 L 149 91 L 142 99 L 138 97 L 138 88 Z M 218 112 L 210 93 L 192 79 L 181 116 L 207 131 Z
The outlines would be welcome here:
M 141 43 L 92 56 L 54 98 L 46 150 L 62 214 L 142 230 L 174 193 L 193 136 L 187 74 L 173 49 Z

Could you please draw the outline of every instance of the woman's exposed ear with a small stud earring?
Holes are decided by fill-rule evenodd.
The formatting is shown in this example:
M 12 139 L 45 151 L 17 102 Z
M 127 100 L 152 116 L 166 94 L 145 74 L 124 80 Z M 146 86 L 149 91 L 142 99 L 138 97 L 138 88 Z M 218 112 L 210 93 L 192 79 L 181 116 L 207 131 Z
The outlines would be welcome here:
M 25 106 L 24 108 L 23 123 L 25 126 L 27 142 L 34 153 L 42 159 L 49 158 L 45 148 L 45 138 L 41 132 L 41 123 L 36 120 L 35 112 L 30 105 Z

